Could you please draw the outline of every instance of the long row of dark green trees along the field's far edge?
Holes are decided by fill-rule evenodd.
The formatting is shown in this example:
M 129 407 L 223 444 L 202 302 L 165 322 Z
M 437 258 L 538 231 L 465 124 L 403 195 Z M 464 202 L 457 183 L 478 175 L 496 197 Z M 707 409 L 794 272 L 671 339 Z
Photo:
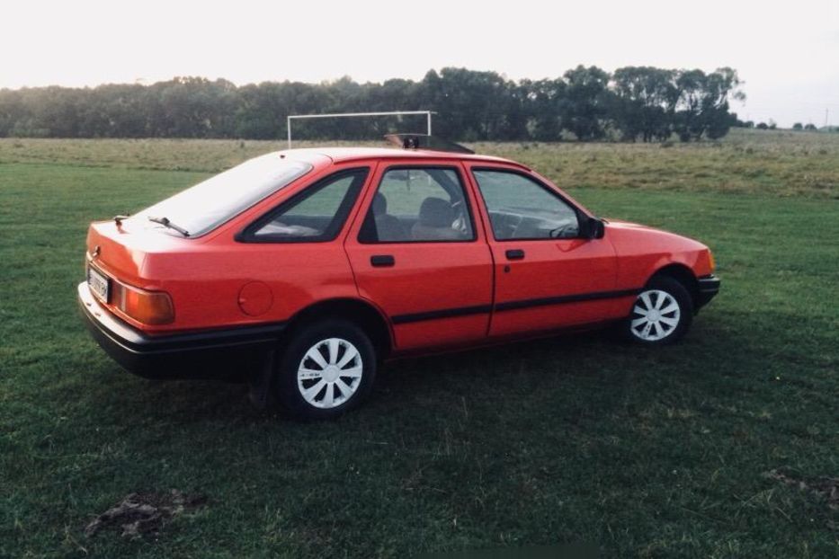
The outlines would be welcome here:
M 434 134 L 460 141 L 721 138 L 745 99 L 736 71 L 578 66 L 554 79 L 514 81 L 446 67 L 422 80 L 321 84 L 176 77 L 151 85 L 0 90 L 0 137 L 254 138 L 286 136 L 289 114 L 436 111 Z M 295 122 L 295 138 L 361 139 L 424 131 L 424 117 Z M 410 120 L 415 119 L 415 120 Z

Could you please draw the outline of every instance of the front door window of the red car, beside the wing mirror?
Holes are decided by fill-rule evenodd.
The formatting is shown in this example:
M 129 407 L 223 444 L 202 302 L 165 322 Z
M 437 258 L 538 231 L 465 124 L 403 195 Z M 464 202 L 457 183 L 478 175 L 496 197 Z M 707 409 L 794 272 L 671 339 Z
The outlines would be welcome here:
M 509 239 L 567 239 L 579 236 L 576 210 L 539 182 L 518 173 L 474 171 L 493 235 Z

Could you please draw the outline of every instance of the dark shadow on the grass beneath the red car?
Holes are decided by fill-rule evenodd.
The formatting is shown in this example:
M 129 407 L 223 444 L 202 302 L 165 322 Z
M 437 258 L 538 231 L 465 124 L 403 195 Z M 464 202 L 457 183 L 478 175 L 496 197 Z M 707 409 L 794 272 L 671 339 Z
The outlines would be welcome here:
M 524 342 L 511 342 L 477 350 L 461 350 L 432 356 L 395 359 L 379 368 L 369 400 L 351 415 L 381 412 L 382 408 L 420 409 L 451 397 L 480 398 L 499 392 L 515 393 L 522 383 L 538 387 L 546 382 L 572 379 L 590 386 L 596 397 L 620 401 L 633 377 L 664 371 L 680 382 L 692 384 L 693 360 L 705 357 L 708 346 L 717 352 L 738 350 L 736 339 L 705 332 L 673 346 L 646 348 L 620 341 L 609 331 L 568 333 Z M 708 339 L 709 336 L 711 339 Z M 720 346 L 727 346 L 721 350 Z M 128 375 L 126 375 L 128 376 Z M 276 410 L 260 411 L 248 398 L 248 386 L 218 380 L 149 381 L 130 377 L 130 390 L 112 397 L 114 405 L 145 407 L 145 413 L 160 414 L 169 421 L 286 421 Z M 116 381 L 113 381 L 116 382 Z M 655 397 L 655 395 L 650 395 Z M 132 402 L 127 400 L 131 399 Z M 340 420 L 339 420 L 340 421 Z

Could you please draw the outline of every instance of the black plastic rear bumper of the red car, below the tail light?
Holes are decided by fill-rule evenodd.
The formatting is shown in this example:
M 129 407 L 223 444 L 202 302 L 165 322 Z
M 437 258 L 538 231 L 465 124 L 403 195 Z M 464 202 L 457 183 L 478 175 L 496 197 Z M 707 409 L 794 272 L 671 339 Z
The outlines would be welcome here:
M 78 286 L 85 325 L 108 355 L 147 378 L 244 377 L 266 359 L 285 324 L 259 324 L 196 333 L 148 335 L 99 304 L 86 283 Z

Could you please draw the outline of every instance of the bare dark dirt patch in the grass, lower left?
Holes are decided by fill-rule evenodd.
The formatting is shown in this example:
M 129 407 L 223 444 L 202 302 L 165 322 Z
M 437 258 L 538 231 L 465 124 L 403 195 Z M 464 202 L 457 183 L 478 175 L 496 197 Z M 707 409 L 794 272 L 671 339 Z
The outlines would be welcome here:
M 122 537 L 156 536 L 170 519 L 206 502 L 204 495 L 187 495 L 176 489 L 168 493 L 130 493 L 88 524 L 85 536 L 93 537 L 105 528 L 120 528 Z

